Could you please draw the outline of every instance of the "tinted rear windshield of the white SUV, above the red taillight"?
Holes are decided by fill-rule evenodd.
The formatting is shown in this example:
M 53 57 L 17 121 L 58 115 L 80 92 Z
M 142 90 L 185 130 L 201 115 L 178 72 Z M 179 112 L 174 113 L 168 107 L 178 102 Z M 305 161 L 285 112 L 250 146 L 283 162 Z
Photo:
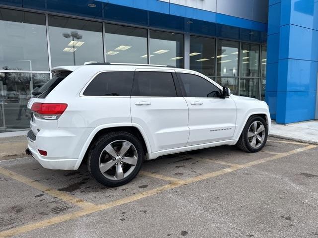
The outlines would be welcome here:
M 42 87 L 35 88 L 32 92 L 33 98 L 46 98 L 49 93 L 56 87 L 63 79 L 69 76 L 72 72 L 66 71 L 56 74 L 53 78 L 47 81 Z

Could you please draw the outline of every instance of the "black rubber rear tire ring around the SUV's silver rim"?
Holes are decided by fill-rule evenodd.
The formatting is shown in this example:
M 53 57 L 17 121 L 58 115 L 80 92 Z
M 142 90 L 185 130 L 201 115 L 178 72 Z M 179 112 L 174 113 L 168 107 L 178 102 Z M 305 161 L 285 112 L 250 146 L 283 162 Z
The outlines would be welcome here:
M 102 150 L 107 146 L 109 143 L 116 141 L 116 140 L 127 140 L 132 143 L 138 155 L 138 161 L 134 171 L 124 179 L 120 180 L 112 180 L 107 179 L 99 170 L 99 156 Z M 89 164 L 90 166 L 90 173 L 91 175 L 101 184 L 105 186 L 120 186 L 123 184 L 128 183 L 130 180 L 134 179 L 137 174 L 139 173 L 144 157 L 144 150 L 141 142 L 132 134 L 126 132 L 115 132 L 109 135 L 105 135 L 101 137 L 99 140 L 96 141 L 95 147 L 91 151 L 91 155 L 89 156 Z

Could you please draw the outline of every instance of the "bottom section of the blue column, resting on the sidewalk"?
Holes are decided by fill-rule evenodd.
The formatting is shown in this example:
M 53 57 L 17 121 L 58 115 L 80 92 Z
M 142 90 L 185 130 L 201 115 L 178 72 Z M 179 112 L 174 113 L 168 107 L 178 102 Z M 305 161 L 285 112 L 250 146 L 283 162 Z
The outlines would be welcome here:
M 315 118 L 316 91 L 278 92 L 278 123 L 292 123 Z

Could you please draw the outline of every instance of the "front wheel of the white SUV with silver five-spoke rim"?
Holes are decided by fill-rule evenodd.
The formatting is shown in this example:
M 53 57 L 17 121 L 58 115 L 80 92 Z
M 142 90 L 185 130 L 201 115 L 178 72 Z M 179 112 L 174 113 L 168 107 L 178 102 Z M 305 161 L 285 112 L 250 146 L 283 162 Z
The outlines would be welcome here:
M 268 126 L 266 121 L 260 116 L 251 116 L 243 128 L 237 146 L 242 151 L 255 153 L 263 149 L 267 136 Z

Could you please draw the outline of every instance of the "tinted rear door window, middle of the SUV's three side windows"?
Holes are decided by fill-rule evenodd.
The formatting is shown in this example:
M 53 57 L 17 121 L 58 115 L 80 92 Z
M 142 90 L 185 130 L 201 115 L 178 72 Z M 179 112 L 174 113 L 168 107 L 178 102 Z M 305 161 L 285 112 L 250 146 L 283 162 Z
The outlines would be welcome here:
M 132 96 L 176 97 L 172 74 L 169 72 L 138 72 Z

